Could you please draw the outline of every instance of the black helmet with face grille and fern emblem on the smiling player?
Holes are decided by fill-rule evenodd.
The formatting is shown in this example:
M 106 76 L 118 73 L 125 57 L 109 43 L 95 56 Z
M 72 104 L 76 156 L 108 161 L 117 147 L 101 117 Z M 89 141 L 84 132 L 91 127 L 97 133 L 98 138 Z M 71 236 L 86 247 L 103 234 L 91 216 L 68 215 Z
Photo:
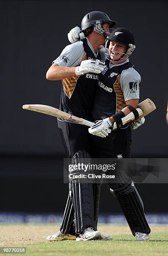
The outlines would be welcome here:
M 107 59 L 109 59 L 110 41 L 124 44 L 128 47 L 127 51 L 123 54 L 123 56 L 121 56 L 119 58 L 119 59 L 121 59 L 121 61 L 123 59 L 127 59 L 133 53 L 133 51 L 135 49 L 135 39 L 134 39 L 133 33 L 131 31 L 127 30 L 126 28 L 115 28 L 112 31 L 112 33 L 110 34 L 110 36 L 108 37 L 108 40 L 106 41 L 105 47 L 106 47 Z M 119 51 L 115 51 L 115 52 L 120 53 Z M 111 58 L 110 58 L 110 60 L 111 60 Z

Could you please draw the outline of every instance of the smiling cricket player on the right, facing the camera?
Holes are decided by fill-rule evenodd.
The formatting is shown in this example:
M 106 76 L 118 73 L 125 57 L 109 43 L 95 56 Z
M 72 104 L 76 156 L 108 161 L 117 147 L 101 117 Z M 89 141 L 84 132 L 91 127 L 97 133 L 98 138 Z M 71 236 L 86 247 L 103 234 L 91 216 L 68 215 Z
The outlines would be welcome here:
M 106 68 L 99 75 L 93 120 L 96 124 L 89 128 L 91 141 L 97 157 L 129 158 L 131 156 L 131 127 L 123 125 L 121 118 L 133 112 L 135 119 L 139 99 L 141 76 L 128 57 L 135 49 L 134 36 L 125 28 L 116 28 L 106 43 Z M 113 130 L 116 122 L 117 129 Z M 144 119 L 132 124 L 137 128 Z M 100 138 L 100 133 L 104 138 Z M 108 137 L 106 137 L 109 134 Z M 105 138 L 106 137 L 106 138 Z M 133 236 L 137 240 L 148 240 L 151 232 L 144 214 L 143 203 L 131 179 L 119 172 L 118 183 L 109 183 L 111 193 L 117 198 L 124 212 Z

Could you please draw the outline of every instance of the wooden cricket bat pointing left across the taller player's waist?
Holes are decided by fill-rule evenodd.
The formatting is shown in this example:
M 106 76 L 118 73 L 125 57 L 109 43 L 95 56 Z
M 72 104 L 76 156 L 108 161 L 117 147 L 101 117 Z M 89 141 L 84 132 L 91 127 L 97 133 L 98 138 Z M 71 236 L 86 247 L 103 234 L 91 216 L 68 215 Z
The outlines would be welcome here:
M 32 110 L 35 112 L 39 112 L 39 113 L 43 113 L 43 114 L 47 114 L 47 115 L 52 115 L 52 116 L 59 117 L 59 118 L 63 118 L 63 119 L 69 120 L 69 121 L 73 121 L 75 123 L 87 125 L 89 127 L 92 127 L 93 125 L 95 125 L 95 123 L 92 123 L 88 120 L 79 118 L 74 115 L 70 115 L 69 113 L 66 113 L 57 108 L 53 108 L 53 107 L 47 106 L 47 105 L 27 104 L 27 105 L 23 105 L 22 108 L 27 109 L 27 110 Z

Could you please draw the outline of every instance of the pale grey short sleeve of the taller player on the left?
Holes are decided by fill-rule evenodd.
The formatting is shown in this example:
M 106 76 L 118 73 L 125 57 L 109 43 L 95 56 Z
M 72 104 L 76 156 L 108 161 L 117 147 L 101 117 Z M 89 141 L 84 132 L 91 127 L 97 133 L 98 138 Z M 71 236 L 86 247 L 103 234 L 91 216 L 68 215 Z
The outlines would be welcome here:
M 84 54 L 83 42 L 78 41 L 67 45 L 53 63 L 58 64 L 60 67 L 76 67 L 81 63 Z

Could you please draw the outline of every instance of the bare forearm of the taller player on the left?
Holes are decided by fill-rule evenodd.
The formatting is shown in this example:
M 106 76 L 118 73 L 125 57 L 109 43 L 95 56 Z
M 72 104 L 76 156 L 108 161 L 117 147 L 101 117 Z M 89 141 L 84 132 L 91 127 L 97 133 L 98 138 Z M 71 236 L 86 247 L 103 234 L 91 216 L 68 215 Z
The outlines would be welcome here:
M 57 65 L 51 66 L 49 68 L 46 74 L 46 78 L 48 80 L 61 80 L 75 75 L 75 67 L 59 67 Z

